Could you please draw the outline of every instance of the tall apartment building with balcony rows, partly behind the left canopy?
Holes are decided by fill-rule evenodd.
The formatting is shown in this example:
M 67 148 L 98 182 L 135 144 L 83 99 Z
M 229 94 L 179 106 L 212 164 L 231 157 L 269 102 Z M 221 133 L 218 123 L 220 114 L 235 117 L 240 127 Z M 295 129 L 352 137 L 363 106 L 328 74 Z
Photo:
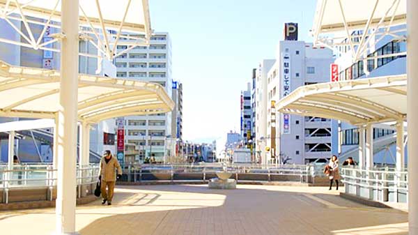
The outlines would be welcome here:
M 118 52 L 127 46 L 118 46 Z M 155 33 L 148 46 L 137 46 L 114 61 L 118 78 L 154 82 L 172 94 L 171 40 L 169 33 Z M 171 136 L 171 112 L 125 117 L 125 162 L 171 156 L 176 137 Z M 175 119 L 174 119 L 175 120 Z M 173 140 L 174 139 L 174 140 Z

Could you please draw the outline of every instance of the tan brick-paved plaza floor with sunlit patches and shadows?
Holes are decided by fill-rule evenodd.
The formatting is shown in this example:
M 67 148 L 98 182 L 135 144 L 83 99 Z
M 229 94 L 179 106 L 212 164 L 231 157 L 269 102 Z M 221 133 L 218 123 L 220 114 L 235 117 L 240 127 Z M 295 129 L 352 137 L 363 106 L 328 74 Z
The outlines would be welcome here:
M 118 186 L 114 205 L 77 207 L 82 235 L 408 234 L 408 214 L 342 199 L 335 190 L 272 185 Z M 1 234 L 52 234 L 54 209 L 0 213 Z

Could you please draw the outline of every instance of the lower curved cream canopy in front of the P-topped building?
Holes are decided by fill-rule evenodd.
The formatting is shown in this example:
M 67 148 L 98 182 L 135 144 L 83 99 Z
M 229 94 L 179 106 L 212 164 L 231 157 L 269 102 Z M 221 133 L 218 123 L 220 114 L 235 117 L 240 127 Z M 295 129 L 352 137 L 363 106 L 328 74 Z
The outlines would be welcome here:
M 279 112 L 339 119 L 356 126 L 406 118 L 406 75 L 301 86 L 276 104 Z

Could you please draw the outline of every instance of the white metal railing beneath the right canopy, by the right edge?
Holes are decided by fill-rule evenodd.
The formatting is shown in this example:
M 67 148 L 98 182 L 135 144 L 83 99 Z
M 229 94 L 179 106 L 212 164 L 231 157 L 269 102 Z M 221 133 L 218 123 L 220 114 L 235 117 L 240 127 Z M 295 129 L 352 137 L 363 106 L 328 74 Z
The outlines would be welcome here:
M 359 169 L 342 167 L 341 177 L 346 192 L 380 202 L 407 202 L 408 171 L 389 167 Z

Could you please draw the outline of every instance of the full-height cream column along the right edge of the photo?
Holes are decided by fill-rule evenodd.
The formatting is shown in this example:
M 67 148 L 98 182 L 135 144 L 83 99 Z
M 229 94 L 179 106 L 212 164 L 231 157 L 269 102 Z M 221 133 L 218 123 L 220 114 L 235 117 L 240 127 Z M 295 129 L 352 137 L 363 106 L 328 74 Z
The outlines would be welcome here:
M 408 0 L 407 76 L 408 76 L 408 220 L 409 234 L 418 235 L 418 1 Z

